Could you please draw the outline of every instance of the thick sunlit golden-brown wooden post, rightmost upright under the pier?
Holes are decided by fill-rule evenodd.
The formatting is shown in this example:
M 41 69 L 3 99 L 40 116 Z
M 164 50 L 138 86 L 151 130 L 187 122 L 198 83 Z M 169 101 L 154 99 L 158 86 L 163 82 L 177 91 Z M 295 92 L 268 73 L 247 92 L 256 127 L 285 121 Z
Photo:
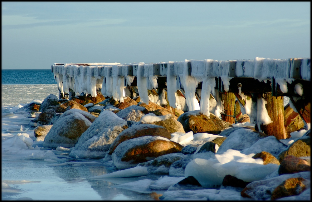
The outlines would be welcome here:
M 277 139 L 286 139 L 287 134 L 284 133 L 284 97 L 271 96 L 271 92 L 264 93 L 266 100 L 266 110 L 271 118 L 272 123 L 264 126 L 260 125 L 260 129 L 267 135 L 274 135 Z

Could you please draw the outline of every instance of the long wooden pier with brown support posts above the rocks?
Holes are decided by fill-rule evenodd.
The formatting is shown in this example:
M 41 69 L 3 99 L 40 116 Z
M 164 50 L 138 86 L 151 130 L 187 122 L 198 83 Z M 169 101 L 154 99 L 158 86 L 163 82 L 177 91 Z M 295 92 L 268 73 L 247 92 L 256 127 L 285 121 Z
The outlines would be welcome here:
M 101 84 L 100 82 L 103 82 L 103 79 L 108 79 L 110 77 L 123 78 L 124 87 L 138 86 L 137 77 L 139 75 L 140 78 L 142 78 L 142 76 L 144 77 L 145 75 L 147 81 L 149 76 L 154 76 L 157 77 L 157 89 L 168 89 L 168 71 L 171 71 L 171 79 L 172 76 L 178 79 L 178 77 L 181 76 L 181 72 L 184 72 L 184 75 L 191 76 L 193 78 L 196 77 L 196 75 L 201 74 L 198 72 L 198 69 L 205 68 L 204 73 L 202 73 L 203 77 L 209 77 L 209 79 L 215 80 L 214 90 L 217 92 L 216 96 L 219 96 L 218 99 L 223 102 L 224 112 L 221 114 L 222 120 L 234 123 L 235 118 L 233 115 L 235 115 L 234 109 L 236 99 L 239 101 L 241 107 L 245 107 L 247 100 L 251 99 L 252 103 L 257 103 L 257 99 L 263 98 L 266 101 L 266 111 L 268 116 L 270 116 L 272 123 L 267 125 L 260 125 L 260 128 L 256 124 L 257 121 L 259 121 L 257 118 L 251 120 L 251 123 L 255 123 L 255 129 L 257 131 L 262 131 L 268 135 L 274 135 L 278 139 L 285 139 L 286 134 L 284 129 L 283 96 L 290 98 L 290 102 L 295 107 L 295 110 L 299 113 L 305 124 L 310 123 L 310 58 L 286 59 L 282 61 L 286 64 L 285 70 L 281 69 L 281 67 L 278 67 L 280 63 L 275 62 L 275 60 L 273 62 L 270 60 L 271 59 L 266 61 L 269 65 L 263 65 L 263 67 L 261 67 L 262 69 L 255 67 L 256 65 L 259 66 L 259 64 L 262 65 L 261 62 L 256 63 L 257 61 L 255 59 L 237 61 L 232 60 L 225 62 L 213 61 L 210 63 L 209 61 L 207 63 L 207 61 L 199 60 L 186 60 L 184 62 L 161 62 L 152 64 L 55 63 L 51 66 L 51 70 L 54 72 L 55 79 L 58 82 L 59 90 L 61 88 L 59 95 L 59 98 L 61 99 L 64 97 L 65 92 L 69 93 L 69 97 L 76 95 L 76 93 L 82 93 L 75 92 L 72 83 L 66 84 L 67 87 L 70 86 L 68 89 L 63 89 L 65 83 L 73 82 L 75 78 L 81 78 L 81 76 L 87 77 L 87 79 L 89 79 L 88 81 L 93 79 L 93 82 L 96 81 L 97 86 Z M 193 65 L 194 67 L 192 67 L 192 62 L 194 62 L 194 64 L 197 66 Z M 181 65 L 182 63 L 184 64 L 183 71 L 173 67 L 174 65 L 178 67 L 178 65 Z M 208 64 L 208 66 L 200 66 L 201 64 Z M 214 67 L 216 65 L 217 67 Z M 254 68 L 252 71 L 255 71 L 253 74 L 246 73 L 248 71 L 251 72 L 252 68 Z M 265 77 L 262 78 L 260 70 L 272 71 L 273 73 L 266 75 L 264 74 Z M 87 73 L 83 73 L 82 71 Z M 145 71 L 149 71 L 149 74 L 147 74 Z M 216 71 L 219 73 L 216 73 Z M 220 72 L 222 72 L 222 74 Z M 260 75 L 260 79 L 259 76 L 253 76 L 257 74 Z M 280 74 L 283 74 L 284 76 L 276 76 Z M 130 80 L 132 81 L 129 82 L 129 79 L 127 80 L 126 77 L 131 78 Z M 86 80 L 74 82 L 81 81 Z M 285 85 L 280 86 L 281 83 L 284 83 Z M 286 92 L 285 87 L 287 87 Z M 297 90 L 298 88 L 299 90 Z M 178 86 L 177 90 L 184 90 L 183 86 Z M 203 81 L 200 81 L 197 84 L 196 90 L 194 92 L 196 96 L 198 96 L 198 90 L 207 91 L 206 87 L 203 87 Z M 101 89 L 97 87 L 97 91 L 100 92 Z M 88 92 L 88 94 L 91 93 Z M 242 97 L 242 95 L 244 96 Z

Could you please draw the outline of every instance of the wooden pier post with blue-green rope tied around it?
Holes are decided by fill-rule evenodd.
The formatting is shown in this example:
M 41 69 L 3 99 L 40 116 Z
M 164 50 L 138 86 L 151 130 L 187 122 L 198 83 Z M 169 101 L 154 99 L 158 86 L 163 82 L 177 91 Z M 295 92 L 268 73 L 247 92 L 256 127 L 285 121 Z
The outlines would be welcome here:
M 235 105 L 235 95 L 234 93 L 228 93 L 228 92 L 219 92 L 219 96 L 221 101 L 224 101 L 223 107 L 224 107 L 224 113 L 231 116 L 226 116 L 221 114 L 221 118 L 223 121 L 227 121 L 229 123 L 235 123 L 235 119 L 233 116 L 235 116 L 234 113 L 234 105 Z

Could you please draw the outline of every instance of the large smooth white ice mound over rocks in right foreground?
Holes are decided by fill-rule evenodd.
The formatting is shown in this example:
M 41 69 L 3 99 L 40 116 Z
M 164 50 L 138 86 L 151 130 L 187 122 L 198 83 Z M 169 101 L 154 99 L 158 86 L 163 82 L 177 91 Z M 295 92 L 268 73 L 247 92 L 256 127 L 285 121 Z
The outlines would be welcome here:
M 278 165 L 263 165 L 262 159 L 252 159 L 253 154 L 244 155 L 237 150 L 228 150 L 220 155 L 212 152 L 207 154 L 210 154 L 210 158 L 194 158 L 185 168 L 185 177 L 195 177 L 203 187 L 221 185 L 225 175 L 246 182 L 261 180 L 278 169 Z

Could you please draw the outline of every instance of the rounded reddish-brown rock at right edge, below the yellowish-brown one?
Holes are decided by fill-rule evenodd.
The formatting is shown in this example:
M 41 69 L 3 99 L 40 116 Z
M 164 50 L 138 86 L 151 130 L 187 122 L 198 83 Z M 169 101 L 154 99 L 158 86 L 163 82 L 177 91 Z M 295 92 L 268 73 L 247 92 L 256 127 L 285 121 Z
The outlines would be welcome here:
M 280 163 L 278 174 L 291 174 L 303 171 L 310 171 L 310 165 L 307 161 L 300 159 L 299 157 L 288 155 Z

